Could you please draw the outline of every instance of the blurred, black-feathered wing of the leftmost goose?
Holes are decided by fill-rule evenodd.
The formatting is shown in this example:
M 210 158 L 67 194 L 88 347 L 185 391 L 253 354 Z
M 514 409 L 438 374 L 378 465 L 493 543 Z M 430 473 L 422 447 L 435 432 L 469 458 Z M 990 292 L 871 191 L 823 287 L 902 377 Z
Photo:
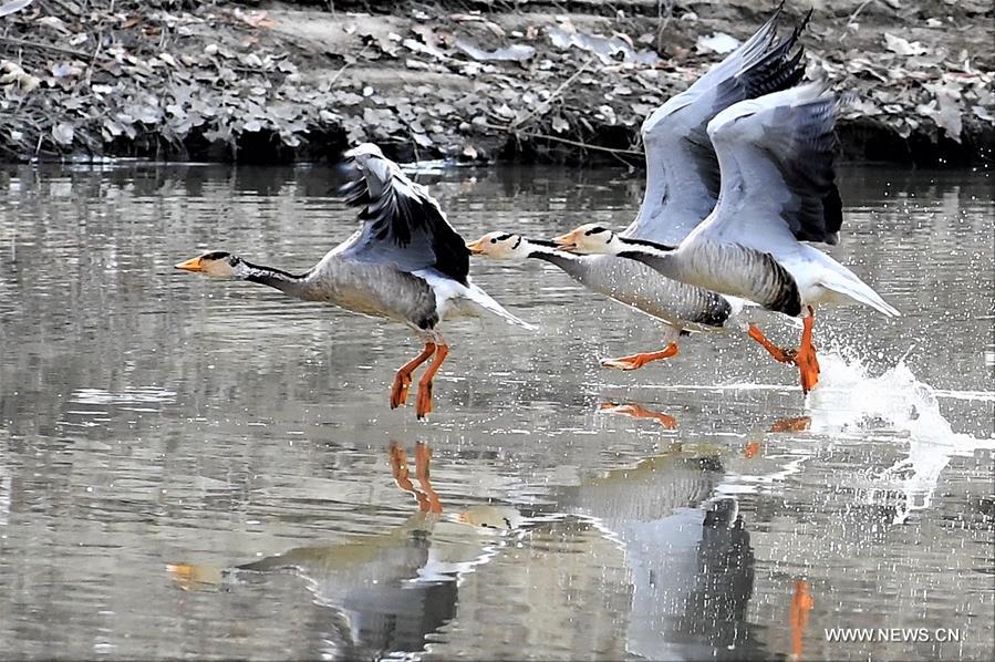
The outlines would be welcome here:
M 406 272 L 435 269 L 468 285 L 469 250 L 425 187 L 376 145 L 364 143 L 345 157 L 352 173 L 342 193 L 348 205 L 360 207 L 362 227 L 343 255 Z

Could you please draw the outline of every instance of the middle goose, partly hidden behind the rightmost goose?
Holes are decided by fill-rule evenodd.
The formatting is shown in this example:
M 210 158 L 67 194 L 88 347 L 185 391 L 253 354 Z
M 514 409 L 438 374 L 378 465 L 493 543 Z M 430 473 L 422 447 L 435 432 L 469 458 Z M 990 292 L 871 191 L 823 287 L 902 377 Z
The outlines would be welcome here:
M 790 35 L 776 41 L 779 17 L 778 8 L 743 45 L 643 123 L 645 195 L 622 236 L 675 244 L 715 206 L 718 163 L 706 134 L 708 121 L 737 101 L 794 85 L 804 73 L 802 49 L 792 51 L 808 17 Z M 467 246 L 476 255 L 495 259 L 551 262 L 584 287 L 665 324 L 664 349 L 602 361 L 609 368 L 636 370 L 673 356 L 682 333 L 722 330 L 742 309 L 742 301 L 665 278 L 632 260 L 557 254 L 549 242 L 507 232 L 490 232 Z

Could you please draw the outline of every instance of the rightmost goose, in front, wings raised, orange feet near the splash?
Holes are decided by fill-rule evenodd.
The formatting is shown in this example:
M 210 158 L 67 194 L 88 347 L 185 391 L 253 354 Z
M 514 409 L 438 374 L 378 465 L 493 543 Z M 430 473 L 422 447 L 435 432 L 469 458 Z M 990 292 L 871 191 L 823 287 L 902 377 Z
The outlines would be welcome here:
M 597 225 L 557 238 L 562 250 L 639 260 L 664 276 L 804 320 L 797 351 L 750 335 L 775 358 L 798 365 L 808 393 L 819 380 L 811 334 L 815 306 L 856 301 L 889 306 L 849 269 L 816 248 L 836 244 L 842 224 L 832 158 L 837 100 L 810 83 L 737 103 L 708 123 L 722 192 L 708 218 L 676 247 L 638 241 Z

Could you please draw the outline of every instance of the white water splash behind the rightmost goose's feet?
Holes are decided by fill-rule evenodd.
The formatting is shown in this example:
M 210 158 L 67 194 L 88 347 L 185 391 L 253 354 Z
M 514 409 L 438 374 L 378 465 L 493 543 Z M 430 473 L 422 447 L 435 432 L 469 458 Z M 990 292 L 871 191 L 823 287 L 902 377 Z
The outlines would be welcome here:
M 908 442 L 908 456 L 875 477 L 875 482 L 896 486 L 904 493 L 904 504 L 893 520 L 901 524 L 913 511 L 931 506 L 940 475 L 951 458 L 993 449 L 995 438 L 954 432 L 941 412 L 940 393 L 920 381 L 904 359 L 872 376 L 860 358 L 848 354 L 846 350 L 835 350 L 820 355 L 821 383 L 807 401 L 811 430 L 892 430 Z M 989 394 L 982 395 L 985 397 L 976 400 L 988 400 Z

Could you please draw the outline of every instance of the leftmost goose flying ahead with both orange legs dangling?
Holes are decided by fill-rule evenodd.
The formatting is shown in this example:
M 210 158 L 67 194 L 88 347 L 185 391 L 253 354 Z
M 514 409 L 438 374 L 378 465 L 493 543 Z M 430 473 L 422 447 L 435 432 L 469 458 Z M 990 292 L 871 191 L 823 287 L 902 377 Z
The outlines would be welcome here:
M 486 310 L 535 327 L 469 281 L 469 251 L 425 187 L 408 179 L 376 145 L 364 143 L 345 157 L 354 167 L 343 193 L 346 204 L 361 209 L 362 226 L 307 273 L 252 265 L 226 251 L 207 252 L 176 268 L 259 282 L 305 301 L 407 324 L 425 349 L 397 371 L 391 408 L 407 401 L 412 372 L 434 356 L 418 381 L 416 413 L 423 418 L 432 411 L 432 380 L 449 353 L 438 331 L 443 319 Z

